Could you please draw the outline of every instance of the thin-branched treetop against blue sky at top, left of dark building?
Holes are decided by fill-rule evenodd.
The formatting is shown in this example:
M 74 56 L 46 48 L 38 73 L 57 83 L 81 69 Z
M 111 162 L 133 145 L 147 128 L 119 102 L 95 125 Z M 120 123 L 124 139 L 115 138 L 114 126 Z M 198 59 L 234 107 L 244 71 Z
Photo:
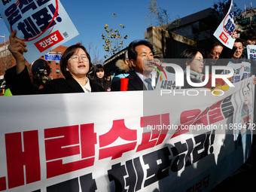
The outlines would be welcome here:
M 160 8 L 157 5 L 157 0 L 149 0 L 150 5 L 148 5 L 148 15 L 145 19 L 147 26 L 158 26 L 161 29 L 166 29 L 165 24 L 168 23 L 169 14 L 167 14 L 167 10 Z

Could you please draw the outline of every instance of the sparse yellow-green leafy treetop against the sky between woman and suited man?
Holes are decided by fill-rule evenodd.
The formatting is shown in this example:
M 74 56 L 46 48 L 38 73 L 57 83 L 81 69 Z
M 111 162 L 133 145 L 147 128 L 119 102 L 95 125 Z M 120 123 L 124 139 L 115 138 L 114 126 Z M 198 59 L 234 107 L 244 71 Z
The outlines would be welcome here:
M 116 28 L 115 25 L 115 17 L 117 17 L 117 14 L 113 14 L 114 16 L 114 29 L 109 29 L 108 24 L 105 24 L 105 35 L 102 34 L 102 39 L 104 40 L 104 50 L 108 53 L 105 55 L 105 58 L 114 55 L 117 53 L 117 51 L 120 51 L 123 48 L 123 39 L 127 39 L 127 35 L 124 37 L 120 35 L 122 29 L 124 29 L 124 26 L 120 24 L 118 27 L 120 30 Z

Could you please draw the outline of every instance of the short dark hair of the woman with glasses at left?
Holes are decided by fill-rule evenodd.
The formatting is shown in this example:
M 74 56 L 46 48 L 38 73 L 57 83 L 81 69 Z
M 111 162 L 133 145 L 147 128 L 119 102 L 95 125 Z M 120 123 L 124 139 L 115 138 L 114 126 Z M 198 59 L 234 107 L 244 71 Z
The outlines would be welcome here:
M 89 59 L 89 67 L 91 69 L 92 67 L 92 62 L 90 62 L 90 55 L 89 53 L 87 52 L 86 48 L 81 45 L 81 44 L 74 44 L 70 47 L 68 47 L 64 53 L 62 54 L 62 57 L 60 59 L 60 62 L 59 62 L 59 65 L 60 65 L 60 70 L 62 72 L 62 74 L 64 75 L 65 78 L 70 78 L 71 75 L 70 75 L 70 72 L 67 71 L 67 66 L 68 66 L 68 61 L 69 61 L 69 58 L 75 54 L 75 52 L 81 48 L 82 50 L 84 50 L 84 52 L 87 54 L 87 58 Z

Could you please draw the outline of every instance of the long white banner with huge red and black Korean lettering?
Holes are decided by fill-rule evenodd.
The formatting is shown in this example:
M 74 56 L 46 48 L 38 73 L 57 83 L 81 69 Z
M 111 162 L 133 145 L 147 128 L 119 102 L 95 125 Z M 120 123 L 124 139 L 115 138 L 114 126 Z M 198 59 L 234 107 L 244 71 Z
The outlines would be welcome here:
M 0 97 L 0 191 L 209 191 L 250 155 L 252 78 L 172 91 Z

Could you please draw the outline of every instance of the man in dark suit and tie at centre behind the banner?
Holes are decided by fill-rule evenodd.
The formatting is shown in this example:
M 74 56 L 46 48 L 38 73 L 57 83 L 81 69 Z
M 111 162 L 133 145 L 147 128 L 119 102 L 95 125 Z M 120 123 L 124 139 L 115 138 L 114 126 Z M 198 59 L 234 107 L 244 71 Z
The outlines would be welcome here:
M 128 47 L 128 57 L 133 71 L 126 78 L 127 90 L 153 90 L 151 86 L 151 62 L 154 62 L 153 46 L 146 40 L 133 41 Z M 111 91 L 120 91 L 120 78 L 113 78 Z

